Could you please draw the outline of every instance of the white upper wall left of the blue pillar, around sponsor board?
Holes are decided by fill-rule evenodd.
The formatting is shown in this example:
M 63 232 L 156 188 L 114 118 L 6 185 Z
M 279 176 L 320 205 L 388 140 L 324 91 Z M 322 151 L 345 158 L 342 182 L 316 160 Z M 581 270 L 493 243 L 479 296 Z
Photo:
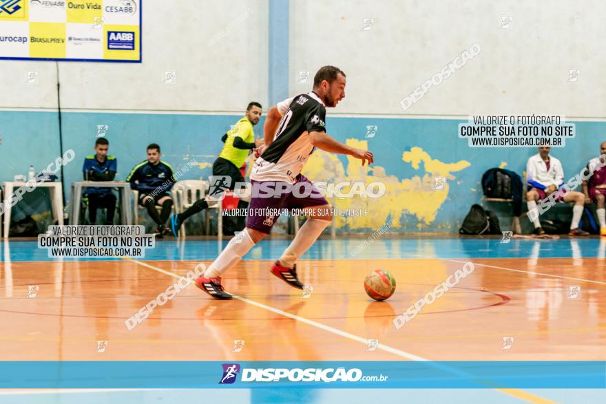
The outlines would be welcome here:
M 143 2 L 143 63 L 59 63 L 64 109 L 240 112 L 267 105 L 267 0 Z M 0 108 L 55 108 L 54 62 L 0 61 Z M 25 84 L 28 70 L 37 85 Z M 175 85 L 163 83 L 176 71 Z

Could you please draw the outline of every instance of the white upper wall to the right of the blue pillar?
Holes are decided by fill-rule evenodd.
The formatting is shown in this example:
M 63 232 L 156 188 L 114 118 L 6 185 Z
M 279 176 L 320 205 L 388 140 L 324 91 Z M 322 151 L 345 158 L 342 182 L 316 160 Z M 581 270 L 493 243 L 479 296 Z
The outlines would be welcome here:
M 336 65 L 335 114 L 606 116 L 606 3 L 590 1 L 291 1 L 291 93 L 298 71 Z M 501 17 L 511 16 L 510 28 Z M 374 26 L 362 31 L 362 20 Z M 472 43 L 481 53 L 404 111 L 399 101 Z M 580 70 L 567 82 L 569 70 Z M 331 111 L 333 112 L 333 111 Z

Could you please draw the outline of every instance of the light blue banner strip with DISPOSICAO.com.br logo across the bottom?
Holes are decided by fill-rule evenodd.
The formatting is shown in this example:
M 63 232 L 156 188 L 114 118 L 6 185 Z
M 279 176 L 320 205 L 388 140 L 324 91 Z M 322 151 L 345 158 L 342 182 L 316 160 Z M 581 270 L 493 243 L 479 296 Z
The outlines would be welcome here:
M 0 361 L 3 389 L 209 387 L 604 389 L 606 361 Z

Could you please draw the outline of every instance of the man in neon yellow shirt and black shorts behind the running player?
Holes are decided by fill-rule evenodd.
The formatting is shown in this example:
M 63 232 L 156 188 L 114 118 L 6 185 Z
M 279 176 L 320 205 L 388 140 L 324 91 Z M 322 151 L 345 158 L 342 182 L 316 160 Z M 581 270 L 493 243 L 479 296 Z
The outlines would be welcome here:
M 229 191 L 233 191 L 236 182 L 244 182 L 244 177 L 240 173 L 240 167 L 244 164 L 251 150 L 264 143 L 262 139 L 255 140 L 255 131 L 253 130 L 253 127 L 259 123 L 261 115 L 261 104 L 252 101 L 249 103 L 244 117 L 238 120 L 238 123 L 227 134 L 224 134 L 221 139 L 225 144 L 219 157 L 213 163 L 213 176 L 227 176 L 231 178 L 231 182 L 224 190 L 229 189 Z M 247 204 L 247 202 L 240 201 L 238 203 L 238 208 L 243 208 L 246 206 L 240 206 L 240 204 Z M 205 199 L 200 199 L 194 202 L 185 212 L 171 215 L 170 228 L 174 236 L 178 237 L 179 228 L 188 217 L 207 209 L 207 207 L 208 202 Z

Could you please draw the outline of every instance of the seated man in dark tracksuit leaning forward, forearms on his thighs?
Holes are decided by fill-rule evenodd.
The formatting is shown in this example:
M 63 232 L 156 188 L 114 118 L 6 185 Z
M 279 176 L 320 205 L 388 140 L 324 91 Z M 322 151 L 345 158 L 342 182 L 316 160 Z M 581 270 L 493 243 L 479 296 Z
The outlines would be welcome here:
M 147 160 L 137 164 L 126 180 L 132 189 L 139 191 L 138 202 L 145 206 L 149 217 L 158 225 L 156 237 L 162 238 L 167 231 L 165 223 L 173 207 L 169 191 L 176 178 L 170 164 L 160 160 L 160 146 L 156 143 L 147 146 Z M 162 206 L 160 214 L 156 211 L 156 204 Z

